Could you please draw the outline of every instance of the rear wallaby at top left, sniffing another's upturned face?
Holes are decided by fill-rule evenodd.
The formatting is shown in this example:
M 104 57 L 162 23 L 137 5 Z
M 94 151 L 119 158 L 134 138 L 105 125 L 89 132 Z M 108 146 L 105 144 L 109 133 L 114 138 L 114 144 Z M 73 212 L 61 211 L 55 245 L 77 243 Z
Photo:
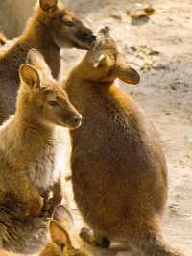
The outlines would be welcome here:
M 19 38 L 0 51 L 0 122 L 14 113 L 19 85 L 18 68 L 27 52 L 36 48 L 50 65 L 54 78 L 60 71 L 60 47 L 90 49 L 91 30 L 59 0 L 38 0 L 35 13 Z

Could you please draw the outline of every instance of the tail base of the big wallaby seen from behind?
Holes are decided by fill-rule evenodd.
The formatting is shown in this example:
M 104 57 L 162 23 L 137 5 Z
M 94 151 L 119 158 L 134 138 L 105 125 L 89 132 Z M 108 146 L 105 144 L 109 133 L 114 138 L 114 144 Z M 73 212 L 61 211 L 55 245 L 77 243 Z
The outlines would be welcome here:
M 184 256 L 179 250 L 167 244 L 161 234 L 150 233 L 144 239 L 136 239 L 132 245 L 144 256 Z

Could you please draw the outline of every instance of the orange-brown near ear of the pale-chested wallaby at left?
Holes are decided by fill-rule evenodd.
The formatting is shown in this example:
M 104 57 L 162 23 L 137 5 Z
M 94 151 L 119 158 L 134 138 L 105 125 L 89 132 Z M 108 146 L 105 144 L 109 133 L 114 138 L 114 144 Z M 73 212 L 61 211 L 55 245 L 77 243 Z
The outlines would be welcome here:
M 30 64 L 21 64 L 19 68 L 20 78 L 31 88 L 40 85 L 40 77 L 36 68 Z

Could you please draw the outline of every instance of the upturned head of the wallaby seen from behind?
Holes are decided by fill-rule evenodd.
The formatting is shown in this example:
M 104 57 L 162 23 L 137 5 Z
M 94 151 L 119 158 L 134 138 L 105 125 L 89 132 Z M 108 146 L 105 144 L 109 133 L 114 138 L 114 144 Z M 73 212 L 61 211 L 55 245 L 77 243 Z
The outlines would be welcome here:
M 134 85 L 140 80 L 137 71 L 124 62 L 108 27 L 99 31 L 97 42 L 85 55 L 80 68 L 80 76 L 93 82 L 110 83 L 119 78 Z

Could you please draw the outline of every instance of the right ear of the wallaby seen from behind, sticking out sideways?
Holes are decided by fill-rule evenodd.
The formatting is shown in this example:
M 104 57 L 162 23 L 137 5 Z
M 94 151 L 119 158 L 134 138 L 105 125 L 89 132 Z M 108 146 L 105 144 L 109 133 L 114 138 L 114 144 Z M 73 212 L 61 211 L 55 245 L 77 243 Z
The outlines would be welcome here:
M 118 54 L 117 56 L 115 76 L 127 84 L 137 85 L 140 82 L 140 76 L 138 72 L 129 64 L 125 64 L 121 54 Z

